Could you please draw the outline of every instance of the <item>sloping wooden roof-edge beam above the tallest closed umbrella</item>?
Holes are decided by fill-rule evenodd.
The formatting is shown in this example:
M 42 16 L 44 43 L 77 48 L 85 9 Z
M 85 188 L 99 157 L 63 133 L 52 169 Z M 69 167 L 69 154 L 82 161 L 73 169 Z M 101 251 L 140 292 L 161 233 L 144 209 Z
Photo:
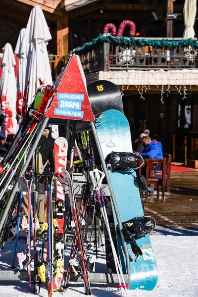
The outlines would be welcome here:
M 54 0 L 53 1 L 50 1 L 50 0 L 46 0 L 46 1 L 44 1 L 44 0 L 40 0 L 40 1 L 36 1 L 36 0 L 16 0 L 16 1 L 25 3 L 25 4 L 33 6 L 33 7 L 36 6 L 36 5 L 39 5 L 42 10 L 48 11 L 48 12 L 53 13 L 53 14 L 58 15 L 58 16 L 63 16 L 62 11 L 60 10 L 60 6 L 56 5 L 56 7 L 54 7 L 55 6 L 54 3 L 56 2 L 56 4 L 57 4 L 57 1 L 54 1 Z M 50 3 L 53 3 L 53 7 L 51 7 Z

